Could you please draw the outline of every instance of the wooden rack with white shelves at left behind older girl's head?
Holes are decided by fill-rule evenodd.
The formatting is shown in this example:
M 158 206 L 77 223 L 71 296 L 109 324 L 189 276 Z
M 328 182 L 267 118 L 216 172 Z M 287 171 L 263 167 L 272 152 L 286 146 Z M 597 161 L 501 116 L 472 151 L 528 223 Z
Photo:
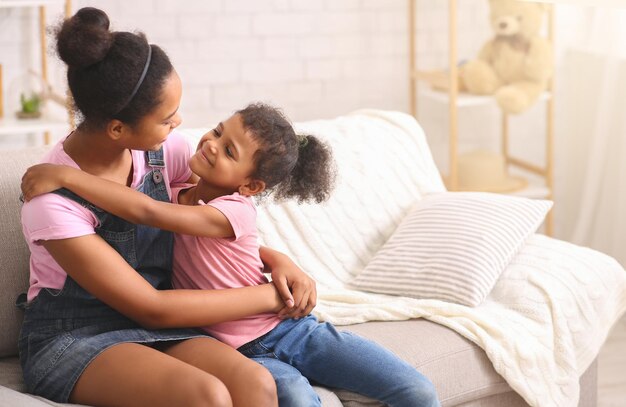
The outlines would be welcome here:
M 2 8 L 38 8 L 39 14 L 39 45 L 41 50 L 41 77 L 48 82 L 48 55 L 46 39 L 46 8 L 49 6 L 63 6 L 65 17 L 72 14 L 72 4 L 70 0 L 0 0 Z M 2 97 L 2 95 L 0 95 Z M 71 109 L 68 106 L 68 119 L 41 117 L 38 119 L 17 119 L 13 112 L 4 112 L 0 118 L 0 135 L 21 134 L 21 133 L 44 133 L 44 144 L 50 143 L 50 132 L 56 130 L 67 130 L 73 122 Z

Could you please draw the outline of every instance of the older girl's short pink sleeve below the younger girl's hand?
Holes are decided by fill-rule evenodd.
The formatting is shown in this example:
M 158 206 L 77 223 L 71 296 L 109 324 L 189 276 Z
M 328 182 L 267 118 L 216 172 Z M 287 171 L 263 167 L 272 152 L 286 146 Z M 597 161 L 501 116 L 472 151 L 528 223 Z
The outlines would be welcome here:
M 97 225 L 90 210 L 54 193 L 38 196 L 22 206 L 24 236 L 33 243 L 90 235 Z

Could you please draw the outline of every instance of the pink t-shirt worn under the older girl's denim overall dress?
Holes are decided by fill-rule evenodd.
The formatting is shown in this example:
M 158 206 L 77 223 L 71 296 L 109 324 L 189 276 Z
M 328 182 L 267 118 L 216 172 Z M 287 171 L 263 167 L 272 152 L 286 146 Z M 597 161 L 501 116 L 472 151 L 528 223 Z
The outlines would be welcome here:
M 78 168 L 65 153 L 59 141 L 41 162 L 63 164 Z M 185 182 L 191 176 L 187 166 L 191 148 L 178 133 L 173 132 L 163 144 L 165 168 L 164 182 L 171 195 L 170 184 Z M 151 169 L 145 151 L 132 150 L 133 180 L 137 188 Z M 44 240 L 68 239 L 95 233 L 98 220 L 93 213 L 70 199 L 49 193 L 38 196 L 22 206 L 22 231 L 30 249 L 30 287 L 28 301 L 39 294 L 42 288 L 61 289 L 67 274 L 40 244 Z

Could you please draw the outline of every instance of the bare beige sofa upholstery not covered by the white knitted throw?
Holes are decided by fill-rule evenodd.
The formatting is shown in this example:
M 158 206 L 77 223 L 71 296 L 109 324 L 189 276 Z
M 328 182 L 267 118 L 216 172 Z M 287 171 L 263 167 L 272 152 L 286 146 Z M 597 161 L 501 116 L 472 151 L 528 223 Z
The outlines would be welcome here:
M 37 162 L 46 148 L 0 152 L 0 406 L 58 406 L 21 394 L 24 384 L 17 359 L 22 319 L 15 297 L 28 284 L 28 250 L 19 219 L 19 182 L 25 168 Z M 502 407 L 525 405 L 493 370 L 485 353 L 454 331 L 426 320 L 370 322 L 341 327 L 381 343 L 426 374 L 437 387 L 444 407 Z M 595 369 L 581 382 L 580 406 L 595 406 Z M 347 392 L 319 389 L 325 407 L 367 406 L 379 403 Z M 513 403 L 513 401 L 518 404 Z M 373 404 L 372 404 L 373 403 Z M 503 404 L 504 403 L 504 404 Z M 521 403 L 521 404 L 520 404 Z

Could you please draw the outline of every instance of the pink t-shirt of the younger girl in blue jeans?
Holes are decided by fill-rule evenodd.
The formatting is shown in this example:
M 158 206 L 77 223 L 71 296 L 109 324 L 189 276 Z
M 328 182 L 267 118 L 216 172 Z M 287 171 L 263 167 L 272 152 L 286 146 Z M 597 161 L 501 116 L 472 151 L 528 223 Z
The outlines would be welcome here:
M 174 188 L 174 203 L 178 192 Z M 209 238 L 176 234 L 174 239 L 174 288 L 224 289 L 267 283 L 259 256 L 256 209 L 252 199 L 235 193 L 208 203 L 226 216 L 235 236 Z M 271 331 L 280 323 L 275 313 L 263 313 L 237 321 L 222 322 L 204 330 L 220 341 L 238 348 Z

